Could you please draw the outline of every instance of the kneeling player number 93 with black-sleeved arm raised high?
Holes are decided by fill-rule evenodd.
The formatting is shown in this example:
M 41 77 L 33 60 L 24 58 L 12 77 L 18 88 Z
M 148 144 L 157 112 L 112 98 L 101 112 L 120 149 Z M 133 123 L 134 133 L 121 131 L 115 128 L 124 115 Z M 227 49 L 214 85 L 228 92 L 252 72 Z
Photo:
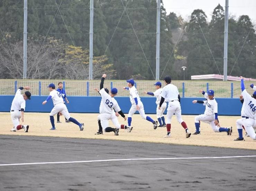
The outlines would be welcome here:
M 102 75 L 101 83 L 100 83 L 100 91 L 95 88 L 96 91 L 98 91 L 101 95 L 101 102 L 100 102 L 100 115 L 98 116 L 98 122 L 99 122 L 99 131 L 97 134 L 102 134 L 99 132 L 102 132 L 104 129 L 105 132 L 114 132 L 115 135 L 119 135 L 119 129 L 125 129 L 125 125 L 120 125 L 117 116 L 115 114 L 115 111 L 117 111 L 126 121 L 126 117 L 124 113 L 121 111 L 117 101 L 115 100 L 115 96 L 117 95 L 118 90 L 116 88 L 113 88 L 108 94 L 108 89 L 103 88 L 104 79 L 107 77 L 106 74 Z M 108 127 L 108 120 L 111 120 L 116 128 Z M 128 132 L 131 131 L 131 128 L 126 128 Z

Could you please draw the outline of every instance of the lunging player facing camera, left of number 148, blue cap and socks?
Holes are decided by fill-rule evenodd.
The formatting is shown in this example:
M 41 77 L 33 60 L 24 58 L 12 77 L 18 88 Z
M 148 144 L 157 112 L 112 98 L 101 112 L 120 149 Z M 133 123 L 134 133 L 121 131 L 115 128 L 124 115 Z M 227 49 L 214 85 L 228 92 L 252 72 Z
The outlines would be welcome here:
M 204 98 L 207 100 L 200 101 L 200 100 L 193 100 L 192 103 L 202 103 L 205 105 L 204 114 L 197 115 L 195 117 L 195 132 L 193 134 L 200 134 L 200 121 L 205 123 L 209 123 L 212 130 L 214 132 L 227 132 L 228 135 L 232 133 L 232 127 L 230 128 L 223 128 L 219 127 L 219 120 L 218 120 L 218 103 L 214 98 L 214 91 L 209 90 L 205 93 L 203 90 L 199 90 L 200 93 L 204 95 Z

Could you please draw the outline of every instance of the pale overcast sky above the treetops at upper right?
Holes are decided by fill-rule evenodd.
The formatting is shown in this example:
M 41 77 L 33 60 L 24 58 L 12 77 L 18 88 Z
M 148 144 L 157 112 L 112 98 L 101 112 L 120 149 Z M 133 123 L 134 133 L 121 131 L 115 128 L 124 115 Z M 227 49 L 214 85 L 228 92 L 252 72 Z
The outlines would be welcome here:
M 220 3 L 225 10 L 225 0 L 163 0 L 167 14 L 174 12 L 177 16 L 189 20 L 194 9 L 202 9 L 211 20 L 213 9 Z M 236 15 L 236 18 L 246 14 L 256 24 L 256 0 L 229 0 L 229 16 Z

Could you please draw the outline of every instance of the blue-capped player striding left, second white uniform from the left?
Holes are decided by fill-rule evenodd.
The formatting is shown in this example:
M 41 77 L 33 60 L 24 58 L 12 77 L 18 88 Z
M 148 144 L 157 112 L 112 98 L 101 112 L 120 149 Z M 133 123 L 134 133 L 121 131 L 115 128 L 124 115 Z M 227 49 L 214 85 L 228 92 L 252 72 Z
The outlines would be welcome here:
M 65 118 L 68 119 L 68 121 L 71 121 L 71 122 L 77 124 L 80 128 L 80 131 L 83 131 L 84 124 L 79 123 L 76 119 L 74 119 L 70 116 L 66 105 L 63 103 L 62 95 L 60 94 L 60 92 L 55 90 L 55 85 L 53 83 L 50 83 L 49 86 L 47 86 L 47 88 L 49 88 L 50 95 L 43 102 L 43 105 L 45 105 L 46 102 L 49 101 L 50 99 L 53 100 L 53 104 L 54 104 L 54 107 L 50 113 L 50 121 L 52 124 L 52 128 L 50 130 L 56 130 L 55 124 L 54 124 L 54 115 L 61 112 L 61 115 L 63 114 L 65 116 Z

